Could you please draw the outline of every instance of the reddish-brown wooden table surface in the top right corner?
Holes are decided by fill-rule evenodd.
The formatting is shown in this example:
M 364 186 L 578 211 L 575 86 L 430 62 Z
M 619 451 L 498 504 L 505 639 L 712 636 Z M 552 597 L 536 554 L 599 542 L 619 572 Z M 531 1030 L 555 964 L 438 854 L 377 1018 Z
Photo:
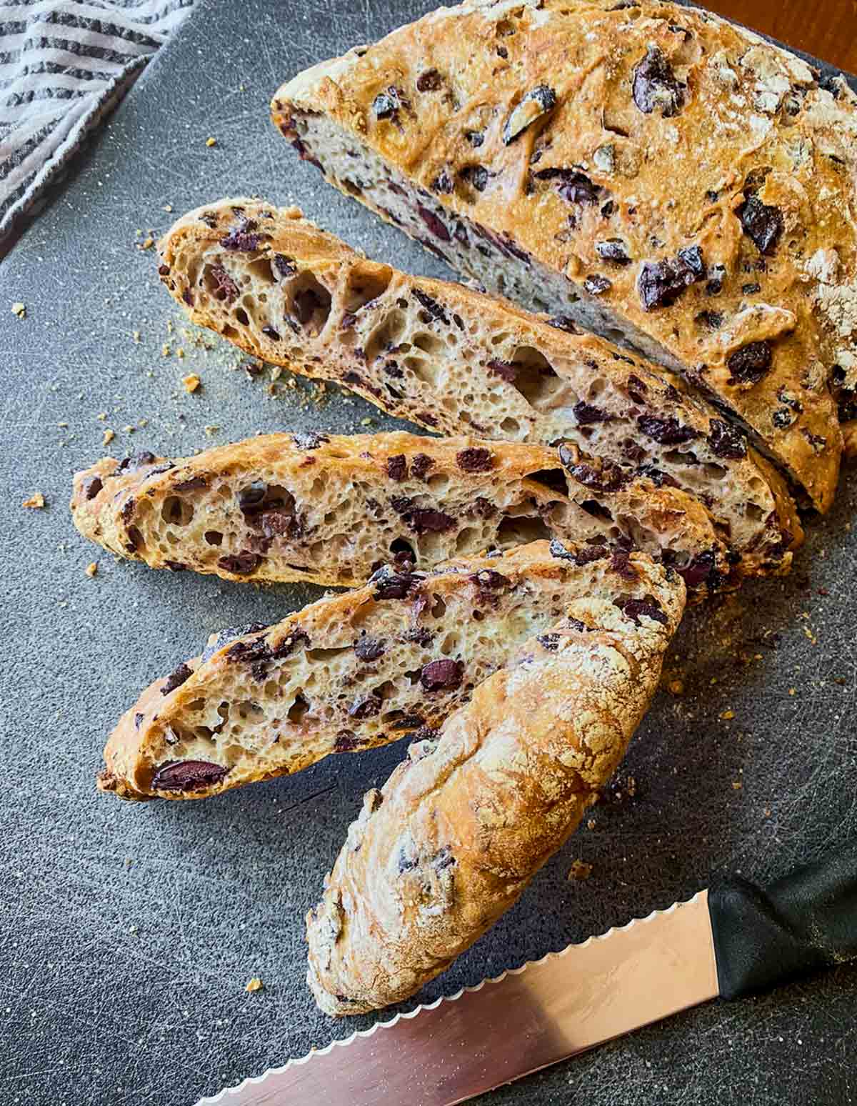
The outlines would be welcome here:
M 702 7 L 857 73 L 857 0 L 702 0 Z

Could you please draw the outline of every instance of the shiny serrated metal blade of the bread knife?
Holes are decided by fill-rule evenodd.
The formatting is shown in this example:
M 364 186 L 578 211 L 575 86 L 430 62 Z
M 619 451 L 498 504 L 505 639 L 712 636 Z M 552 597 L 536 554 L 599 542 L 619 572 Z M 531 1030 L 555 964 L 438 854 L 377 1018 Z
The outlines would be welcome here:
M 453 1106 L 717 993 L 700 891 L 198 1106 Z

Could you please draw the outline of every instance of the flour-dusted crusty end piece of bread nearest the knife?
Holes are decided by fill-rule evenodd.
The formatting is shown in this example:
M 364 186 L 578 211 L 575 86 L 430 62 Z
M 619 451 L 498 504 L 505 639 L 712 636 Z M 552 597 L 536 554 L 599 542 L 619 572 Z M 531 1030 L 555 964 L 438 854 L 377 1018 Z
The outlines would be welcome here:
M 634 554 L 510 650 L 359 817 L 307 916 L 309 983 L 330 1014 L 398 1002 L 521 896 L 576 828 L 646 712 L 683 586 Z

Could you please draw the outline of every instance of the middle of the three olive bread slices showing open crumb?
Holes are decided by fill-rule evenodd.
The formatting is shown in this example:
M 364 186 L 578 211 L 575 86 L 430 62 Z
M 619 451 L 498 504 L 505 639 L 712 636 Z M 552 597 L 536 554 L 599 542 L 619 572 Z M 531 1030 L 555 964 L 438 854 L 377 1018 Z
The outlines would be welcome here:
M 353 586 L 540 538 L 642 549 L 704 595 L 734 584 L 706 509 L 676 488 L 558 450 L 411 434 L 275 434 L 74 478 L 77 529 L 155 568 Z M 732 580 L 729 578 L 732 573 Z

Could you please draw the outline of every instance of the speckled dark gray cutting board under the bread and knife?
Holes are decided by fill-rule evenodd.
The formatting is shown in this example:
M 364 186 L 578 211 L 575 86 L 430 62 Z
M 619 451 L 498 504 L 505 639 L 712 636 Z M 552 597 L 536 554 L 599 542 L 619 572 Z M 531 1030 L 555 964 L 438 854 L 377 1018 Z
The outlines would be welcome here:
M 191 1106 L 372 1024 L 316 1011 L 303 982 L 303 915 L 359 796 L 404 748 L 331 758 L 205 803 L 97 796 L 105 735 L 145 684 L 211 629 L 273 620 L 309 593 L 117 564 L 76 535 L 65 504 L 72 471 L 105 451 L 105 427 L 116 432 L 107 451 L 122 457 L 190 452 L 257 430 L 358 430 L 366 417 L 373 428 L 393 425 L 359 400 L 304 409 L 300 392 L 269 397 L 264 380 L 227 367 L 237 357 L 192 348 L 135 231 L 164 230 L 174 217 L 166 204 L 178 213 L 259 192 L 300 200 L 369 253 L 440 274 L 324 186 L 266 117 L 284 76 L 417 13 L 400 0 L 200 3 L 0 267 L 4 1104 Z M 10 313 L 12 301 L 25 303 L 25 320 Z M 179 384 L 188 371 L 203 380 L 194 396 Z M 142 419 L 145 428 L 123 430 Z M 220 430 L 208 436 L 207 425 Z M 22 509 L 35 491 L 46 509 Z M 719 873 L 771 878 L 857 833 L 854 509 L 846 473 L 791 578 L 687 619 L 671 658 L 686 693 L 658 697 L 623 772 L 636 796 L 596 808 L 595 828 L 422 998 L 688 897 Z M 566 879 L 576 857 L 593 865 L 586 883 Z M 248 994 L 253 975 L 264 990 Z M 855 997 L 857 971 L 844 968 L 710 1005 L 491 1103 L 839 1106 L 857 1096 Z

